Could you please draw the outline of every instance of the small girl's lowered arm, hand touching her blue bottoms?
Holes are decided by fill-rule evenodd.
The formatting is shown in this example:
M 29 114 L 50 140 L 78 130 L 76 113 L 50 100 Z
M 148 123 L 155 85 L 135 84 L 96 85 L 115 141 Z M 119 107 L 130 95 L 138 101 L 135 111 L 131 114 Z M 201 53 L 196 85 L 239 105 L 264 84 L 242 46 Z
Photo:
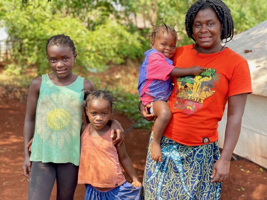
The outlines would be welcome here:
M 134 187 L 138 187 L 138 186 L 141 187 L 142 183 L 140 183 L 138 176 L 134 170 L 134 166 L 133 166 L 129 156 L 126 153 L 124 143 L 122 143 L 120 146 L 118 146 L 118 145 L 115 145 L 115 146 L 117 148 L 117 152 L 119 155 L 120 164 L 123 166 L 123 169 L 130 177 L 132 184 L 134 185 Z

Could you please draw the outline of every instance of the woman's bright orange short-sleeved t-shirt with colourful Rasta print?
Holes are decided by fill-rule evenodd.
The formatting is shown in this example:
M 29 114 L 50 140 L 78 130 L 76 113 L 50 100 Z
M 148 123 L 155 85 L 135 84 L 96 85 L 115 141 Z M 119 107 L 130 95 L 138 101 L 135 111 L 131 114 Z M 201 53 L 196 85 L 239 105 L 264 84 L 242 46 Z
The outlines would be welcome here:
M 174 65 L 180 68 L 199 65 L 208 70 L 198 76 L 173 78 L 169 98 L 173 116 L 163 136 L 190 146 L 218 140 L 218 121 L 228 97 L 252 92 L 247 61 L 229 48 L 197 54 L 191 44 L 176 49 Z

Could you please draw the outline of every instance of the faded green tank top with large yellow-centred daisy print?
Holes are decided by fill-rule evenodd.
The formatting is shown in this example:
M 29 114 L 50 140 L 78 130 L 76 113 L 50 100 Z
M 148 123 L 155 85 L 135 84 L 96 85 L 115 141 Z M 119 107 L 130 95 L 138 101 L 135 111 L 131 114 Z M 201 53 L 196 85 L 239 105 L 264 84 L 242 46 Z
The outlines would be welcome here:
M 57 86 L 42 75 L 30 161 L 79 165 L 83 81 Z

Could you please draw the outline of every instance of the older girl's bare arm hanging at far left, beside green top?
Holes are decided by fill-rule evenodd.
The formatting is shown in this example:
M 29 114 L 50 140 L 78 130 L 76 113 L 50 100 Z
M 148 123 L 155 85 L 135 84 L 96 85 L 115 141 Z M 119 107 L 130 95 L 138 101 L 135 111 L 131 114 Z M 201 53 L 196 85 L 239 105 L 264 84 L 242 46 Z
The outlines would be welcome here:
M 30 161 L 31 154 L 27 147 L 27 144 L 34 136 L 36 107 L 39 98 L 41 83 L 42 83 L 42 76 L 37 76 L 31 81 L 27 98 L 26 116 L 23 129 L 24 162 L 22 166 L 23 174 L 26 177 L 29 177 L 31 172 L 31 161 Z

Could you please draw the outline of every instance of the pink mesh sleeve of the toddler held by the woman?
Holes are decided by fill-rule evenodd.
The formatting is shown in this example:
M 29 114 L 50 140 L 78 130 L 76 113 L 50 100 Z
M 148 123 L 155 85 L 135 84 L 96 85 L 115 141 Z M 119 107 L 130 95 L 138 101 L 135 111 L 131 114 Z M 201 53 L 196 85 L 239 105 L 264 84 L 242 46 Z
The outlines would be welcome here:
M 173 70 L 174 65 L 169 65 L 161 53 L 153 53 L 148 57 L 147 79 L 159 79 L 166 81 L 168 74 Z

